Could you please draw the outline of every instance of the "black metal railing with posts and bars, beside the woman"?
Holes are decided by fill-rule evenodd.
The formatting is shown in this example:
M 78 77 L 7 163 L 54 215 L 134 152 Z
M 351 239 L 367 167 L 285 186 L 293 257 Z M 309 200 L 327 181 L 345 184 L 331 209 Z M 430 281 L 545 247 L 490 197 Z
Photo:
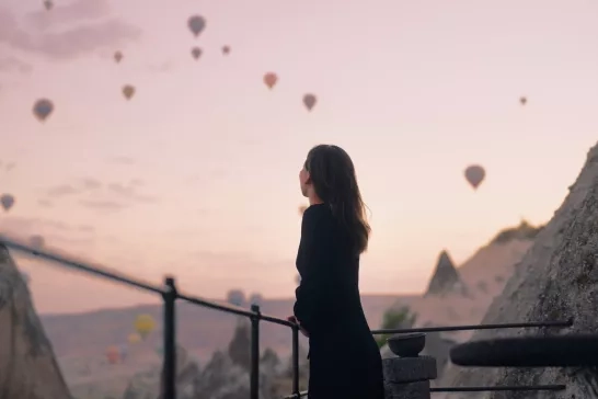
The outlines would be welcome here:
M 145 292 L 160 295 L 163 301 L 163 374 L 162 374 L 162 399 L 176 399 L 176 300 L 184 300 L 189 304 L 210 308 L 218 311 L 243 316 L 251 321 L 251 368 L 250 368 L 250 399 L 258 399 L 260 394 L 260 322 L 266 321 L 291 329 L 292 333 L 292 394 L 285 399 L 297 399 L 307 396 L 307 391 L 299 390 L 299 326 L 284 319 L 267 316 L 261 312 L 260 307 L 252 305 L 251 309 L 218 304 L 199 297 L 183 295 L 176 289 L 174 277 L 166 276 L 163 286 L 156 286 L 139 280 L 128 277 L 124 274 L 110 271 L 99 264 L 89 264 L 72 258 L 48 252 L 43 249 L 32 248 L 23 242 L 0 236 L 0 244 L 7 248 L 33 254 L 37 258 L 67 266 L 72 270 L 82 271 L 88 274 L 118 282 Z M 541 328 L 541 327 L 571 327 L 573 320 L 526 322 L 506 324 L 472 324 L 451 327 L 424 327 L 415 329 L 382 329 L 372 330 L 372 334 L 392 334 L 405 332 L 441 332 L 463 330 L 488 330 L 510 328 Z M 432 392 L 459 392 L 459 391 L 494 391 L 494 390 L 563 390 L 564 385 L 538 385 L 538 386 L 501 386 L 501 387 L 434 387 Z

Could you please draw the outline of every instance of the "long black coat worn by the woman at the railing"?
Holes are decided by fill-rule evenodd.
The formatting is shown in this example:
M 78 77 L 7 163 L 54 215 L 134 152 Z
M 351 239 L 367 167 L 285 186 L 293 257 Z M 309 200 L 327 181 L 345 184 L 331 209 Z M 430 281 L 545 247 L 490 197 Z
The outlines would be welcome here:
M 326 204 L 303 213 L 295 316 L 309 332 L 309 399 L 383 399 L 382 361 L 359 297 L 359 255 Z

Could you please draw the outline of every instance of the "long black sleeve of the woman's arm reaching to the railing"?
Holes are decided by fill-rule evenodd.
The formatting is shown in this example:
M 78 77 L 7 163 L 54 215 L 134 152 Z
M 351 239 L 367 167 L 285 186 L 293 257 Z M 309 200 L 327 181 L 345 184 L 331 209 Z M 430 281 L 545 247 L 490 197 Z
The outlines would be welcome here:
M 301 282 L 295 290 L 294 312 L 301 326 L 313 331 L 330 318 L 330 282 L 332 269 L 331 231 L 326 220 L 309 209 L 301 224 Z

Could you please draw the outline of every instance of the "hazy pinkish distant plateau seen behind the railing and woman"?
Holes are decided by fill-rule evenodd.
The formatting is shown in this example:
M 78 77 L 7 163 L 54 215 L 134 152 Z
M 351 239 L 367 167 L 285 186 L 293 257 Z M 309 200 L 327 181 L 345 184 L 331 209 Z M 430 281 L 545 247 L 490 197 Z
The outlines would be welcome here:
M 415 296 L 364 295 L 361 301 L 370 327 L 378 328 L 383 312 L 395 303 L 409 304 Z M 269 316 L 286 318 L 292 312 L 292 299 L 264 299 L 262 311 Z M 176 306 L 179 342 L 200 360 L 208 358 L 217 349 L 226 347 L 232 337 L 237 316 L 228 315 L 191 304 Z M 162 331 L 160 306 L 136 306 L 104 309 L 84 314 L 42 315 L 42 322 L 59 357 L 104 356 L 110 345 L 127 342 L 134 331 L 135 318 L 149 314 L 158 322 L 156 331 L 141 345 L 150 352 L 161 345 Z M 291 333 L 288 328 L 263 322 L 262 349 L 272 347 L 279 355 L 290 353 Z

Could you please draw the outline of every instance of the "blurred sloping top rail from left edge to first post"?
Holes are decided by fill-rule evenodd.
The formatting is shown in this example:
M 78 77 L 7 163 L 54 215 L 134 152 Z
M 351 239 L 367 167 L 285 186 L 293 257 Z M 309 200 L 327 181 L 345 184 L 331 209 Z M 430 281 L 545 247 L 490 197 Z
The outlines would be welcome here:
M 78 271 L 83 271 L 83 272 L 89 273 L 89 274 L 94 274 L 96 276 L 101 276 L 101 277 L 104 277 L 104 278 L 107 278 L 107 280 L 112 280 L 112 281 L 123 283 L 123 284 L 126 284 L 126 285 L 130 285 L 130 286 L 141 288 L 141 289 L 145 289 L 145 290 L 149 290 L 149 292 L 152 292 L 152 293 L 156 293 L 156 294 L 164 294 L 164 289 L 162 289 L 162 288 L 160 288 L 158 286 L 151 285 L 149 283 L 140 282 L 140 281 L 134 280 L 131 277 L 127 277 L 127 276 L 125 276 L 123 274 L 108 272 L 107 270 L 105 270 L 105 267 L 100 266 L 97 264 L 92 265 L 92 264 L 89 264 L 89 263 L 83 263 L 82 261 L 76 261 L 73 259 L 69 259 L 69 258 L 64 256 L 64 255 L 51 253 L 51 252 L 48 252 L 48 251 L 45 251 L 45 250 L 42 250 L 42 249 L 34 249 L 34 248 L 25 246 L 25 244 L 23 244 L 21 242 L 10 240 L 4 236 L 0 236 L 0 244 L 4 244 L 8 248 L 16 250 L 16 251 L 27 252 L 27 253 L 36 256 L 36 258 L 41 258 L 41 259 L 44 259 L 46 261 L 50 261 L 50 262 L 54 262 L 54 263 L 59 263 L 59 264 L 62 264 L 62 265 L 65 265 L 67 267 L 70 267 L 70 269 L 74 269 L 74 270 L 78 270 Z

